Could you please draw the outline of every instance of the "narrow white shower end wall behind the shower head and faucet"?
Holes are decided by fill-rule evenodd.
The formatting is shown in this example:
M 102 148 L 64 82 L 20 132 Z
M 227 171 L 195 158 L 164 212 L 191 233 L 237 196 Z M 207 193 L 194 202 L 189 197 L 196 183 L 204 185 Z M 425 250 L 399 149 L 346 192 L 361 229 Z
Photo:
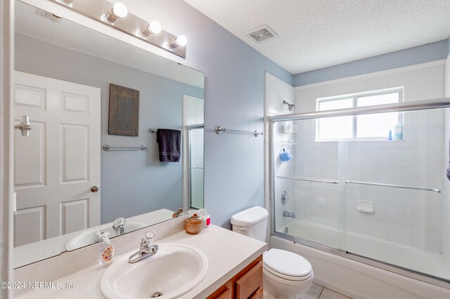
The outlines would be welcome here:
M 294 88 L 289 84 L 281 81 L 280 79 L 266 73 L 266 95 L 269 97 L 269 117 L 278 114 L 290 114 L 295 113 L 296 109 L 289 111 L 286 105 L 283 105 L 283 100 L 286 102 L 294 103 Z M 295 165 L 295 154 L 293 154 L 293 159 L 288 162 L 281 162 L 278 158 L 279 152 L 282 150 L 284 142 L 289 140 L 294 140 L 295 136 L 291 133 L 283 133 L 281 128 L 275 127 L 275 140 L 276 140 L 276 159 L 274 161 L 274 168 L 276 168 L 277 175 L 293 176 L 294 175 L 294 165 Z M 291 151 L 291 149 L 285 149 Z M 295 185 L 293 180 L 281 180 L 276 179 L 275 181 L 275 219 L 276 227 L 282 227 L 292 218 L 284 218 L 283 211 L 294 212 L 294 199 L 295 199 Z M 283 205 L 281 204 L 281 193 L 283 191 L 288 192 L 290 200 Z

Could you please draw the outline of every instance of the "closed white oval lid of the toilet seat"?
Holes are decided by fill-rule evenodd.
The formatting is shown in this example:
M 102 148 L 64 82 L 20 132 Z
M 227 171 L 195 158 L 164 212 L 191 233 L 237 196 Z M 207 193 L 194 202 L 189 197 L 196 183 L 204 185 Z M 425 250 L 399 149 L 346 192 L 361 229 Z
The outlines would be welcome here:
M 303 277 L 311 273 L 311 264 L 297 253 L 272 248 L 262 255 L 264 265 L 291 277 Z

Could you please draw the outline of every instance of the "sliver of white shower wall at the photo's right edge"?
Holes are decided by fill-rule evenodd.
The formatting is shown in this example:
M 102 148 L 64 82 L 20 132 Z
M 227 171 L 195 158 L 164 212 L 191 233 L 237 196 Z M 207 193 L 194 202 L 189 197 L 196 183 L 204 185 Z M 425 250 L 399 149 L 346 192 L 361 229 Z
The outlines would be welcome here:
M 450 97 L 450 55 L 445 62 L 444 95 Z M 449 165 L 449 138 L 450 138 L 450 109 L 446 109 L 444 114 L 444 171 Z M 442 255 L 447 265 L 450 267 L 450 181 L 444 178 L 442 195 Z

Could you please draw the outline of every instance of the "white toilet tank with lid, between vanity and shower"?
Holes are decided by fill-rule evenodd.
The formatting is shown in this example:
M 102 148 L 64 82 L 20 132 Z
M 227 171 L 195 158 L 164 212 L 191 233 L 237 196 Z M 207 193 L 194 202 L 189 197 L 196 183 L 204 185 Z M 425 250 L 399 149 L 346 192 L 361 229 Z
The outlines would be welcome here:
M 233 232 L 266 241 L 267 216 L 265 208 L 254 206 L 231 216 Z

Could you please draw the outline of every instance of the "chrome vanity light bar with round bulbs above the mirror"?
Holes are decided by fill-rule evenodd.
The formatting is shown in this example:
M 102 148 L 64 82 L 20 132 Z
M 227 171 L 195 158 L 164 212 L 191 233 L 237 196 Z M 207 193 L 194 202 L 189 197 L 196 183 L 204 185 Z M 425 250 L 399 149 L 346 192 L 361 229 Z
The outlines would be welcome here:
M 179 36 L 171 34 L 165 31 L 164 29 L 161 29 L 159 33 L 143 32 L 145 29 L 155 28 L 149 27 L 149 25 L 151 24 L 150 21 L 152 20 L 143 20 L 129 12 L 124 17 L 122 17 L 122 15 L 114 15 L 113 14 L 114 4 L 106 0 L 96 0 L 96 1 L 72 0 L 70 4 L 68 4 L 66 0 L 51 0 L 51 1 L 61 4 L 67 8 L 70 8 L 72 9 L 72 11 L 76 11 L 77 13 L 85 15 L 86 17 L 98 20 L 99 22 L 102 22 L 105 25 L 108 25 L 115 29 L 119 29 L 122 32 L 125 32 L 127 34 L 136 37 L 137 39 L 146 41 L 149 44 L 152 44 L 153 46 L 157 46 L 158 48 L 162 48 L 182 58 L 186 58 L 186 44 L 182 46 L 179 45 L 178 43 L 175 46 L 171 46 L 173 45 L 174 41 L 177 38 L 179 38 Z M 120 2 L 120 0 L 118 2 Z M 155 23 L 153 24 L 155 25 Z M 183 38 L 182 41 L 184 41 Z

